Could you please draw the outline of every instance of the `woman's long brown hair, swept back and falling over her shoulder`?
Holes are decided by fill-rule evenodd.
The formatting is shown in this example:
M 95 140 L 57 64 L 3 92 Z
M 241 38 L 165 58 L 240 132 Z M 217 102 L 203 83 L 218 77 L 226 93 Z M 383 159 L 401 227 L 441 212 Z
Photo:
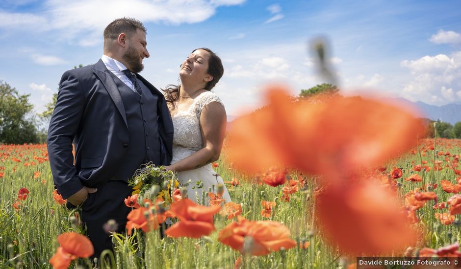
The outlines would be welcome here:
M 209 48 L 206 48 L 206 47 L 196 48 L 192 51 L 192 53 L 199 49 L 208 51 L 208 53 L 210 54 L 210 57 L 208 58 L 208 70 L 206 70 L 206 72 L 210 74 L 213 77 L 213 79 L 208 81 L 208 83 L 206 83 L 205 90 L 211 90 L 223 76 L 224 67 L 218 55 L 216 55 Z M 173 109 L 175 109 L 175 102 L 179 100 L 179 88 L 180 87 L 181 87 L 180 84 L 179 85 L 168 84 L 165 87 L 165 89 L 161 89 L 165 92 L 165 99 L 166 99 L 167 104 Z

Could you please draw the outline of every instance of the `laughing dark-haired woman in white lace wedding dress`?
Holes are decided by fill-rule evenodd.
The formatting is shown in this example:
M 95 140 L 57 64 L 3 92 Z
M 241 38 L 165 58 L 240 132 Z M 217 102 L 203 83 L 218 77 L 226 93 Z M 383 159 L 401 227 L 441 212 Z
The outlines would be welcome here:
M 211 168 L 221 153 L 226 131 L 226 111 L 211 89 L 223 76 L 221 59 L 208 48 L 198 48 L 181 64 L 179 86 L 168 85 L 165 99 L 173 119 L 173 160 L 167 169 L 187 185 L 187 196 L 201 202 L 208 189 L 217 192 L 223 179 Z M 205 191 L 205 194 L 203 193 Z M 224 186 L 223 199 L 230 202 Z M 206 201 L 206 199 L 205 199 Z M 206 203 L 206 202 L 205 202 Z

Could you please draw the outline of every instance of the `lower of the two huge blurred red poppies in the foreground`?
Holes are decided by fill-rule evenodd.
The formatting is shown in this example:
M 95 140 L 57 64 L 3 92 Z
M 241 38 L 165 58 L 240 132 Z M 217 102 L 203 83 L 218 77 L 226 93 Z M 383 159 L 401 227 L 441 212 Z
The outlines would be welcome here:
M 316 223 L 325 239 L 351 255 L 405 249 L 417 235 L 400 206 L 373 181 L 332 185 L 316 198 Z

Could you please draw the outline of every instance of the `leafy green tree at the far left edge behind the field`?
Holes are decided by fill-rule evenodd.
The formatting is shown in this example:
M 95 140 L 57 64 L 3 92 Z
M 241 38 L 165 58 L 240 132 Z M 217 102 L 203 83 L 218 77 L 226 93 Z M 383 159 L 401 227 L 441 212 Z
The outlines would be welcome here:
M 36 143 L 37 127 L 30 94 L 19 94 L 0 80 L 0 143 Z

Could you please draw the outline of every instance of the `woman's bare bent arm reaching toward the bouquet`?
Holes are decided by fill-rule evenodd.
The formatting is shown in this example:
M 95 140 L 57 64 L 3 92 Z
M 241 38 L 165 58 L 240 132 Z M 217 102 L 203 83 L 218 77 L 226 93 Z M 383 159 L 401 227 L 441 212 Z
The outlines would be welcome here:
M 166 166 L 167 169 L 181 172 L 202 167 L 218 160 L 226 133 L 227 116 L 224 106 L 218 102 L 207 104 L 200 115 L 200 129 L 204 147 L 177 163 Z

